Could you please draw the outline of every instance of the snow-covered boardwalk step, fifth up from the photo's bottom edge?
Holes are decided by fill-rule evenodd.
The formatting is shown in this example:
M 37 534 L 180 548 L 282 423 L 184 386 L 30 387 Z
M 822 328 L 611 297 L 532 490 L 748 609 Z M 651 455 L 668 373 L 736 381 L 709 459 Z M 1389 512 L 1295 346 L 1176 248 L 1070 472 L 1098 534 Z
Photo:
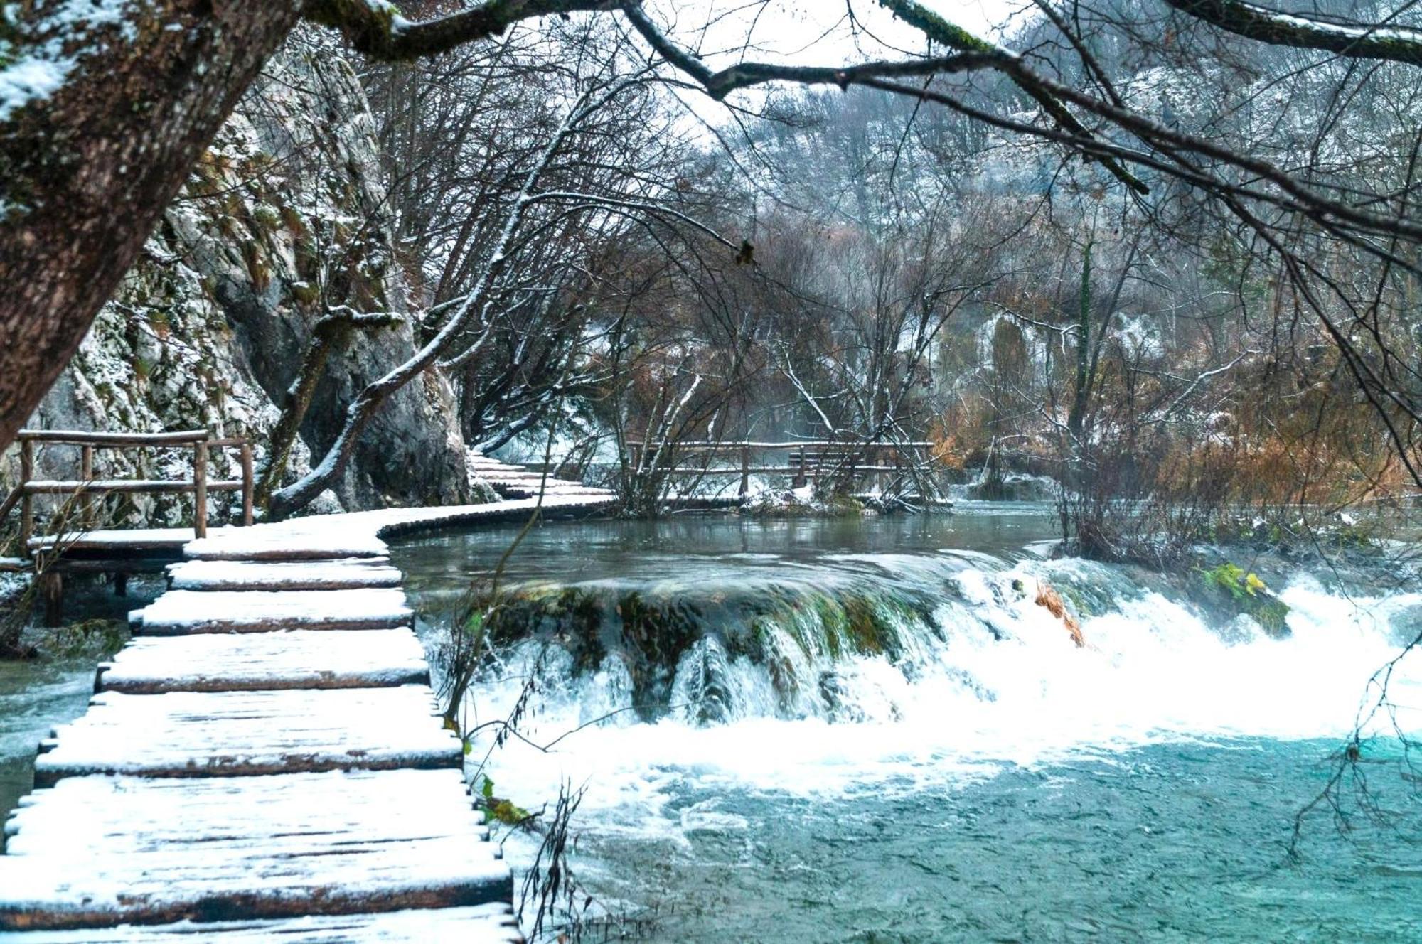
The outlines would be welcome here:
M 169 590 L 142 610 L 144 633 L 363 630 L 408 623 L 401 590 Z

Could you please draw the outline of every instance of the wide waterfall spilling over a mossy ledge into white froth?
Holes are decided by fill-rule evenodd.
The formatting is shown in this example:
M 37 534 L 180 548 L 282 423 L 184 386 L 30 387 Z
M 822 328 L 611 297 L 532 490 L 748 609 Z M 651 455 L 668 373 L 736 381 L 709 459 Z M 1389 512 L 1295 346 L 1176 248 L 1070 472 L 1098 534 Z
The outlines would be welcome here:
M 1037 603 L 1044 584 L 1084 647 Z M 971 552 L 838 554 L 793 579 L 538 584 L 502 611 L 508 661 L 481 691 L 539 672 L 545 729 L 633 707 L 609 725 L 715 742 L 776 722 L 920 758 L 1342 735 L 1422 594 L 1348 596 L 1300 573 L 1280 599 L 1290 633 L 1274 637 L 1148 572 Z M 1418 704 L 1418 682 L 1404 661 L 1394 695 Z

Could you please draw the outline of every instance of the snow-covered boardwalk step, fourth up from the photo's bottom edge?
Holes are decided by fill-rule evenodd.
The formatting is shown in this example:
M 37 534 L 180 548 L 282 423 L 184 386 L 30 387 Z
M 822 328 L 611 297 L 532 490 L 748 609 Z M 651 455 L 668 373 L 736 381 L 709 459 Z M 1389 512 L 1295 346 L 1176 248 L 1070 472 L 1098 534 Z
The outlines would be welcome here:
M 429 682 L 410 628 L 138 637 L 100 665 L 98 691 L 384 688 Z

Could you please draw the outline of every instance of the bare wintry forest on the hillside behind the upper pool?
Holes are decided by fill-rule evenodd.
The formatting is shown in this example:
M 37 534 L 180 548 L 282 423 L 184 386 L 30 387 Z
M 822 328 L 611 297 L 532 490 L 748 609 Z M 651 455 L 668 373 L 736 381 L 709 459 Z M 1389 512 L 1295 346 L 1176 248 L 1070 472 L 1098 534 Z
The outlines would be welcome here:
M 1064 82 L 1341 189 L 1411 179 L 1406 67 L 1172 36 L 1156 3 L 1057 11 L 1089 60 L 1044 16 L 1005 38 Z M 1278 533 L 1415 490 L 1409 418 L 1369 408 L 1330 337 L 1415 391 L 1415 273 L 1335 233 L 1280 219 L 1273 245 L 1167 173 L 1133 169 L 1142 193 L 883 90 L 781 87 L 711 122 L 603 20 L 364 80 L 427 310 L 488 296 L 442 361 L 465 439 L 536 452 L 556 424 L 630 508 L 665 499 L 677 442 L 795 436 L 930 438 L 984 496 L 1051 476 L 1106 557 L 1179 550 L 1162 532 L 1183 547 L 1241 505 Z M 1041 118 L 1007 80 L 930 85 Z M 525 208 L 530 182 L 550 196 Z

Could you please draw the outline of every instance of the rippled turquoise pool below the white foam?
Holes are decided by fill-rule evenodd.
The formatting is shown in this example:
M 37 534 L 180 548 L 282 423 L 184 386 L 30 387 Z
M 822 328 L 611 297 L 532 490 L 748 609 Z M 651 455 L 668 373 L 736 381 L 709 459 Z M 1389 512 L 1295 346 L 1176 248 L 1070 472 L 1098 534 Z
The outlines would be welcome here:
M 1311 820 L 1287 854 L 1330 748 L 1158 745 L 887 795 L 680 786 L 664 837 L 584 823 L 577 859 L 660 906 L 654 941 L 1422 940 L 1415 796 L 1384 790 L 1389 823 L 1349 835 Z

